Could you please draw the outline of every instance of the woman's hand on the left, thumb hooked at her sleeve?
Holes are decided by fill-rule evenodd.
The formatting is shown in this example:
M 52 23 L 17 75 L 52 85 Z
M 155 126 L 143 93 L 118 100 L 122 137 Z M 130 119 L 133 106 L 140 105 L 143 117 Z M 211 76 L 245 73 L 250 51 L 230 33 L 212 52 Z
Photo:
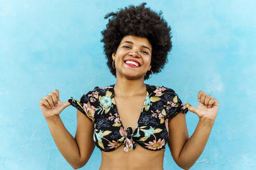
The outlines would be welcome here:
M 39 104 L 45 119 L 59 115 L 63 109 L 71 105 L 69 102 L 59 100 L 57 89 L 41 98 Z

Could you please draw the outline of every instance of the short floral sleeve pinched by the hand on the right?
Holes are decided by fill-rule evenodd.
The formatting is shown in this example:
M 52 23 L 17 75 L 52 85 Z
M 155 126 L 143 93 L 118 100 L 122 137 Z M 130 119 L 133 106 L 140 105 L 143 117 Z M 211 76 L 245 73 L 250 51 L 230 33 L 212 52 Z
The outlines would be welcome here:
M 167 118 L 170 120 L 180 112 L 183 112 L 183 114 L 186 115 L 188 111 L 188 103 L 184 105 L 174 90 L 170 88 L 165 89 L 166 90 L 163 91 L 163 98 L 164 105 L 166 106 L 165 111 L 167 112 Z

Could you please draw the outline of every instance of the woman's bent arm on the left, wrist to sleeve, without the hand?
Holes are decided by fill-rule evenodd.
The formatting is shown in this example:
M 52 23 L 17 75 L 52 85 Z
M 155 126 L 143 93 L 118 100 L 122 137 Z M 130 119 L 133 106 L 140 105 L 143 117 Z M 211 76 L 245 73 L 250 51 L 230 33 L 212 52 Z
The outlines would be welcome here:
M 75 138 L 67 131 L 59 115 L 46 119 L 56 146 L 74 169 L 84 166 L 95 148 L 92 121 L 79 110 L 77 118 Z

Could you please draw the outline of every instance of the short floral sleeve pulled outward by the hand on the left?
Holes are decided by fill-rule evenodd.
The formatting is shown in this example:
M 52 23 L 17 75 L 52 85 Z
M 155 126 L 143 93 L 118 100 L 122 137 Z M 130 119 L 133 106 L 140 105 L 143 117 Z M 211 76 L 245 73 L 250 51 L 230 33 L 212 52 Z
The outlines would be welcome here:
M 73 97 L 70 97 L 68 102 L 81 111 L 85 116 L 94 121 L 95 107 L 91 104 L 90 98 L 93 96 L 92 91 L 84 94 L 80 100 L 76 100 Z

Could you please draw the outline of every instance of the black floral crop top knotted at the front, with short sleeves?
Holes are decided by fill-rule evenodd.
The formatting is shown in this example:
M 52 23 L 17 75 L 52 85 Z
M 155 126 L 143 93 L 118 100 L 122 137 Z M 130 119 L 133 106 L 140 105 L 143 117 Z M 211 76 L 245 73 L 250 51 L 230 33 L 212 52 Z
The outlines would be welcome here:
M 168 120 L 181 111 L 186 115 L 190 104 L 183 104 L 170 88 L 146 84 L 147 95 L 134 134 L 132 127 L 124 129 L 114 101 L 114 84 L 95 87 L 78 101 L 68 102 L 93 121 L 95 145 L 101 151 L 112 151 L 124 144 L 124 151 L 133 150 L 136 144 L 149 150 L 165 150 L 169 138 Z

